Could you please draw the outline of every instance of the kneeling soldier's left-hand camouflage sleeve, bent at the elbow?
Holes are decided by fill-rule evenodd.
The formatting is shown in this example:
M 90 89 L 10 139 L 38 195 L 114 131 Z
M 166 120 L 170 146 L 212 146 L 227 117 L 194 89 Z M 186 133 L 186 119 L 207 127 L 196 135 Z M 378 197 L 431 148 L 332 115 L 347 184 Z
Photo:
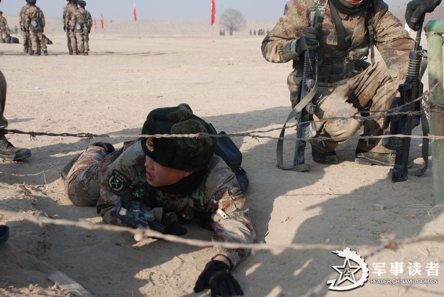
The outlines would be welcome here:
M 312 0 L 293 0 L 285 4 L 284 14 L 262 41 L 262 55 L 268 62 L 286 63 L 299 60 L 296 40 L 308 26 Z

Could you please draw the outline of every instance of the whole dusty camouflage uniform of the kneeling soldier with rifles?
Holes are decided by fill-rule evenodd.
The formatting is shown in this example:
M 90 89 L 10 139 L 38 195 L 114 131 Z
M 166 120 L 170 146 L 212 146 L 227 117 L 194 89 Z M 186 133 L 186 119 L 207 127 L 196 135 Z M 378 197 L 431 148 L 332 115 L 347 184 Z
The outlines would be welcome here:
M 338 40 L 338 33 L 332 20 L 331 1 L 327 5 L 322 29 L 328 31 L 324 46 L 318 54 L 322 64 L 318 67 L 319 86 L 313 98 L 316 105 L 314 120 L 329 117 L 350 117 L 358 111 L 369 110 L 370 115 L 376 110 L 390 108 L 398 85 L 407 75 L 409 51 L 414 48 L 414 40 L 403 25 L 382 0 L 368 0 L 374 6 L 373 43 L 381 53 L 384 62 L 377 62 L 365 70 L 359 64 L 369 55 L 370 38 L 364 15 L 347 15 L 340 11 L 344 28 L 351 38 L 351 47 L 343 49 L 344 40 Z M 287 79 L 291 101 L 297 98 L 298 85 L 302 79 L 303 54 L 299 56 L 290 44 L 299 37 L 300 32 L 309 24 L 309 13 L 313 0 L 293 0 L 285 5 L 284 14 L 276 26 L 262 42 L 262 55 L 273 63 L 286 63 L 293 60 L 294 71 Z M 370 6 L 363 9 L 372 11 Z M 319 59 L 321 61 L 321 59 Z M 386 66 L 387 65 L 387 66 Z M 294 104 L 294 103 L 293 103 Z M 373 111 L 373 112 L 372 112 Z M 382 135 L 384 118 L 366 120 L 357 119 L 325 120 L 317 123 L 318 134 L 326 137 L 344 137 L 343 140 L 329 140 L 324 143 L 313 142 L 321 152 L 331 152 L 347 137 L 356 134 L 364 124 L 364 135 Z M 380 139 L 360 140 L 358 149 L 375 153 L 390 153 Z

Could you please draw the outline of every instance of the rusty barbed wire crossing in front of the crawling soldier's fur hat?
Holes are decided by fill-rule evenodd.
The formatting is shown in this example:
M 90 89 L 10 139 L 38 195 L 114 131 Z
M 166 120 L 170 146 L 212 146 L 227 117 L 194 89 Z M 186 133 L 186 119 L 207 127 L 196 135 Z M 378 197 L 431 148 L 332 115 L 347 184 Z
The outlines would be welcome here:
M 389 116 L 397 116 L 397 115 L 408 115 L 408 116 L 418 116 L 422 113 L 431 114 L 433 112 L 437 113 L 444 113 L 444 103 L 441 102 L 430 102 L 428 99 L 428 96 L 431 92 L 433 92 L 439 85 L 442 85 L 444 81 L 444 78 L 441 78 L 438 83 L 431 88 L 431 90 L 425 92 L 421 97 L 412 100 L 411 102 L 407 102 L 405 104 L 390 108 L 388 110 L 364 110 L 364 111 L 357 111 L 353 115 L 345 117 L 345 116 L 332 116 L 332 117 L 326 117 L 319 120 L 310 120 L 305 122 L 297 122 L 290 124 L 286 126 L 286 129 L 290 128 L 296 128 L 299 125 L 307 124 L 307 123 L 322 123 L 326 122 L 328 120 L 347 120 L 347 119 L 357 119 L 361 121 L 365 120 L 372 120 L 372 119 L 379 119 L 382 117 L 389 117 Z M 404 111 L 405 107 L 411 104 L 415 104 L 418 101 L 423 101 L 423 107 L 422 110 L 407 110 Z M 373 115 L 371 115 L 373 114 Z M 91 140 L 93 138 L 99 138 L 99 137 L 106 137 L 106 138 L 139 138 L 139 137 L 154 137 L 154 138 L 199 138 L 199 137 L 251 137 L 251 138 L 267 138 L 267 139 L 288 139 L 288 140 L 309 140 L 308 138 L 296 138 L 296 137 L 276 137 L 276 136 L 268 136 L 268 135 L 260 135 L 265 133 L 270 133 L 273 131 L 281 130 L 282 127 L 276 127 L 276 128 L 270 128 L 266 130 L 253 130 L 250 132 L 235 132 L 235 133 L 227 133 L 227 134 L 218 134 L 214 135 L 211 133 L 192 133 L 192 134 L 117 134 L 117 133 L 106 133 L 106 134 L 93 134 L 93 133 L 50 133 L 50 132 L 35 132 L 35 131 L 22 131 L 17 129 L 4 129 L 6 133 L 10 134 L 28 134 L 30 135 L 31 140 L 35 140 L 36 136 L 58 136 L 58 137 L 79 137 L 79 138 L 86 138 L 88 140 Z M 316 136 L 314 138 L 310 138 L 317 141 L 325 141 L 325 140 L 345 140 L 345 139 L 375 139 L 375 138 L 390 138 L 390 137 L 400 137 L 400 138 L 428 138 L 430 140 L 438 140 L 438 139 L 444 139 L 444 136 L 436 136 L 436 135 L 405 135 L 405 134 L 390 134 L 390 135 L 354 135 L 354 136 L 342 136 L 342 137 L 326 137 L 326 136 Z

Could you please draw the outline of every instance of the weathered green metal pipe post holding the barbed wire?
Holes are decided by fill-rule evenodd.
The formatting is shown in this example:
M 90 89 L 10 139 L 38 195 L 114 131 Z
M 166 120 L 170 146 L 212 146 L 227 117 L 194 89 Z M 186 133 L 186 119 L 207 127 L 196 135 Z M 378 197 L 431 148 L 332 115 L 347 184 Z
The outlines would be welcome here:
M 431 20 L 424 28 L 427 36 L 429 90 L 443 77 L 443 34 L 444 20 Z M 439 111 L 430 113 L 430 134 L 444 135 L 443 82 L 429 94 L 434 106 L 441 106 Z M 444 203 L 444 139 L 432 141 L 433 198 L 435 205 Z

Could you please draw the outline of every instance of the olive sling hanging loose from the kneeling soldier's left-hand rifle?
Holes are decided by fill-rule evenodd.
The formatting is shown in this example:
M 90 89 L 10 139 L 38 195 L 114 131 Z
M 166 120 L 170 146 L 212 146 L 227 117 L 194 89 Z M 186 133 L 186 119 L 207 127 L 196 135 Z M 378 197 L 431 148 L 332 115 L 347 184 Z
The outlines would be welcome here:
M 287 120 L 285 121 L 284 125 L 282 126 L 282 129 L 279 134 L 279 139 L 277 140 L 277 147 L 276 147 L 276 161 L 277 161 L 277 168 L 282 170 L 292 170 L 297 172 L 307 172 L 310 171 L 310 165 L 309 164 L 300 164 L 296 166 L 286 166 L 283 165 L 283 143 L 284 143 L 284 135 L 285 135 L 285 125 L 288 123 L 289 120 L 293 119 L 296 114 L 298 114 L 302 108 L 305 108 L 305 106 L 313 99 L 314 95 L 316 94 L 316 89 L 318 86 L 318 76 L 317 76 L 317 68 L 318 63 L 316 61 L 316 80 L 314 83 L 313 88 L 308 92 L 308 94 L 299 101 L 299 103 L 296 104 L 296 106 L 293 107 L 293 109 L 290 111 L 290 113 L 287 116 Z

